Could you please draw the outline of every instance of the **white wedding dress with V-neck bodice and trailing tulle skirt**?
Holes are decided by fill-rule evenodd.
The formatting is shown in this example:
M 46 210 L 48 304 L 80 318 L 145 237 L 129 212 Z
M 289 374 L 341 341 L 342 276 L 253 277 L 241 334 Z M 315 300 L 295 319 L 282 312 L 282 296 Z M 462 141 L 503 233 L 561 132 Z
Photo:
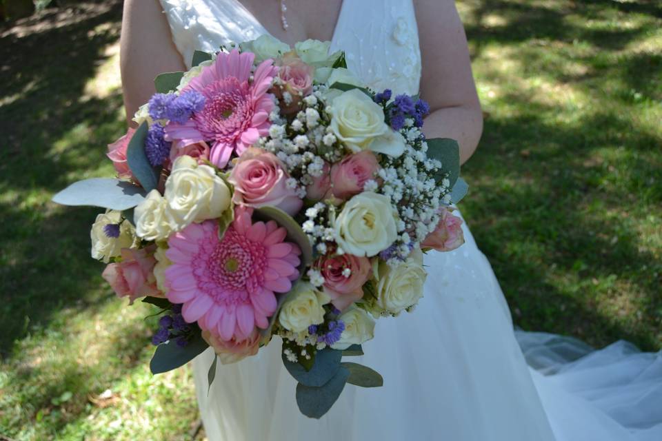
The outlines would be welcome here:
M 237 0 L 161 4 L 187 62 L 195 49 L 267 33 Z M 375 90 L 417 93 L 421 55 L 411 0 L 345 0 L 332 49 L 345 50 L 348 67 Z M 514 333 L 488 260 L 468 229 L 464 234 L 456 251 L 426 256 L 419 307 L 378 320 L 374 340 L 363 345 L 357 361 L 377 369 L 384 386 L 348 384 L 321 420 L 299 413 L 279 340 L 258 356 L 219 365 L 209 393 L 212 351 L 201 354 L 193 369 L 208 438 L 661 441 L 662 356 L 624 342 L 592 351 L 570 338 Z

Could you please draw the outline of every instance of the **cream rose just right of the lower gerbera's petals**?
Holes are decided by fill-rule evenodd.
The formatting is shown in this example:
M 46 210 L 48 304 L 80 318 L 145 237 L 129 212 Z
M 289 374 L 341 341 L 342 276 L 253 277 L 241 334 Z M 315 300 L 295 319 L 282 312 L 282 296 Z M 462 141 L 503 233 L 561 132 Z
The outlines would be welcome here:
M 308 282 L 297 283 L 278 315 L 281 326 L 288 331 L 302 332 L 310 325 L 319 325 L 324 322 L 324 308 L 330 301 L 329 296 Z

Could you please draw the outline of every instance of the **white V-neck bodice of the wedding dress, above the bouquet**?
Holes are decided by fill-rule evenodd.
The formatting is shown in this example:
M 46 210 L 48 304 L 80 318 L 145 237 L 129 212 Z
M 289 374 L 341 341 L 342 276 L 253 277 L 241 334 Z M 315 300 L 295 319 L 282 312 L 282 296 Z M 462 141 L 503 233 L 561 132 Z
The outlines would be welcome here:
M 161 0 L 172 38 L 186 63 L 194 50 L 256 39 L 268 31 L 238 0 Z M 419 34 L 411 0 L 345 0 L 332 39 L 348 68 L 374 90 L 416 94 Z

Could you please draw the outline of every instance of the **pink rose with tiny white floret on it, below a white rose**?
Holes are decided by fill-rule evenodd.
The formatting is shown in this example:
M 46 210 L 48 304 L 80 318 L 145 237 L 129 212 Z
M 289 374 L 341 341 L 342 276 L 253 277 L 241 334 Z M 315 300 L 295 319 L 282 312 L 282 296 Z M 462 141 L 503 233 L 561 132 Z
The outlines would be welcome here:
M 367 257 L 352 254 L 327 254 L 316 265 L 324 277 L 324 292 L 341 311 L 363 297 L 363 284 L 372 264 Z

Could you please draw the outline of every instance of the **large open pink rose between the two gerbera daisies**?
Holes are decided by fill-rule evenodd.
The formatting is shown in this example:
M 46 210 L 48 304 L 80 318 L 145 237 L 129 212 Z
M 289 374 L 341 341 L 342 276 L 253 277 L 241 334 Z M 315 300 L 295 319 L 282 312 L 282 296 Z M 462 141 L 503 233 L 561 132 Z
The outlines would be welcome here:
M 303 201 L 293 188 L 288 187 L 289 178 L 285 165 L 274 154 L 250 147 L 239 156 L 230 172 L 234 203 L 250 207 L 271 205 L 294 216 Z

